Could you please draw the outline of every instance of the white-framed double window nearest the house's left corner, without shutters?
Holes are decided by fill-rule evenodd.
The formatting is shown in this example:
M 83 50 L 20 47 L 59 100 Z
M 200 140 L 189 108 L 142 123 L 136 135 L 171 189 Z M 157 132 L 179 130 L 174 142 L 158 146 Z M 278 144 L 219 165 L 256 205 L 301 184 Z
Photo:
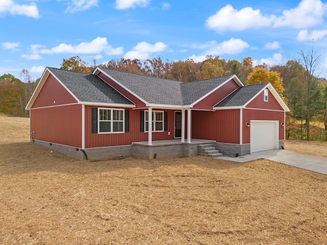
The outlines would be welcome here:
M 99 108 L 98 133 L 124 132 L 124 110 Z

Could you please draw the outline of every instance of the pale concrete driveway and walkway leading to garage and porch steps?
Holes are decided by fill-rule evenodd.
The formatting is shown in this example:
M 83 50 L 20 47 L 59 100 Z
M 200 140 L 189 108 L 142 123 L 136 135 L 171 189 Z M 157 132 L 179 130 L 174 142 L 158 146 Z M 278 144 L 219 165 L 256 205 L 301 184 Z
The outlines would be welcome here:
M 304 168 L 310 171 L 327 175 L 327 158 L 301 154 L 287 150 L 270 150 L 264 152 L 256 152 L 252 153 L 251 155 L 242 157 L 219 157 L 219 159 L 234 162 L 247 162 L 257 159 L 267 159 L 270 161 L 284 163 L 290 166 Z

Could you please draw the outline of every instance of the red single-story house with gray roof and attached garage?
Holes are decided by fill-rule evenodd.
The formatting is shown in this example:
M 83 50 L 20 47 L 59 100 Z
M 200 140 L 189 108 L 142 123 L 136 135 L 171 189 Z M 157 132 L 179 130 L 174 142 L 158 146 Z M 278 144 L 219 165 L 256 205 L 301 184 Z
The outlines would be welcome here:
M 103 67 L 45 68 L 26 109 L 32 142 L 91 160 L 193 156 L 204 143 L 233 157 L 279 149 L 289 111 L 270 83 L 183 83 Z

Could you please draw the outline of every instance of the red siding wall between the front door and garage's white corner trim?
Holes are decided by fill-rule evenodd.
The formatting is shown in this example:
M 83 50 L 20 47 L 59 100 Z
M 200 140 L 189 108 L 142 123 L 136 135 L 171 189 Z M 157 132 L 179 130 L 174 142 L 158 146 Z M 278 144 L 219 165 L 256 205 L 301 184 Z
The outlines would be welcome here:
M 239 144 L 240 110 L 193 110 L 192 138 Z

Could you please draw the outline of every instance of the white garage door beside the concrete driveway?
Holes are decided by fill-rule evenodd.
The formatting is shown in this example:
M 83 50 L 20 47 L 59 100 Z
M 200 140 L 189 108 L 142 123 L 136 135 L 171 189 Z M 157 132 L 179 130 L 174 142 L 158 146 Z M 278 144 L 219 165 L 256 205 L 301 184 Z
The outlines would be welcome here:
M 278 121 L 251 121 L 251 153 L 278 149 Z

